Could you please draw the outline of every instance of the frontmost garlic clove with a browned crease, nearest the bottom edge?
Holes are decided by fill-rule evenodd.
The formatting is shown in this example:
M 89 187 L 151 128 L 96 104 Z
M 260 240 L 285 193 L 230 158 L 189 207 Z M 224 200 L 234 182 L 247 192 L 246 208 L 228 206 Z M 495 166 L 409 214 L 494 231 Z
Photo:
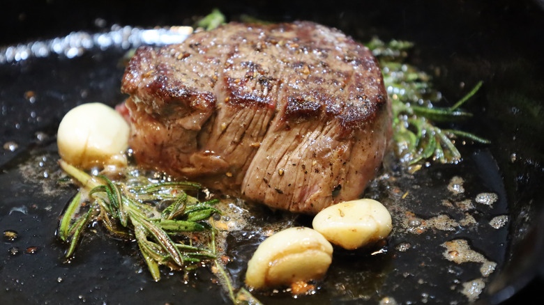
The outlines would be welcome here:
M 311 228 L 288 228 L 259 245 L 248 263 L 245 283 L 252 288 L 321 279 L 331 265 L 333 246 Z

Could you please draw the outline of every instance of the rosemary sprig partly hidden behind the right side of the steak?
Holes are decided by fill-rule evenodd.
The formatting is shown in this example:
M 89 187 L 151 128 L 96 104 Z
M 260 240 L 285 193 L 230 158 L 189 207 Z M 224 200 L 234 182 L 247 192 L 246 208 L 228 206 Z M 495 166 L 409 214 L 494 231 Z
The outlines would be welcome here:
M 386 44 L 374 38 L 367 46 L 378 58 L 384 74 L 384 85 L 393 108 L 395 153 L 402 163 L 414 165 L 428 159 L 457 163 L 461 154 L 453 139 L 489 143 L 475 134 L 435 125 L 470 118 L 472 114 L 460 107 L 478 92 L 481 81 L 452 107 L 435 107 L 441 95 L 432 89 L 430 75 L 405 63 L 407 51 L 413 47 L 411 42 L 392 40 Z

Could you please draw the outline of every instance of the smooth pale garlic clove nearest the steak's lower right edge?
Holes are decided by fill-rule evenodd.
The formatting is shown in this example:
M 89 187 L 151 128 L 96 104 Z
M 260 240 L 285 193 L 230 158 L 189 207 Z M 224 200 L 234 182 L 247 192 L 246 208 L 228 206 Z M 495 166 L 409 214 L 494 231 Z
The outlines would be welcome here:
M 312 221 L 314 230 L 333 244 L 357 249 L 391 233 L 391 214 L 378 201 L 359 199 L 325 208 Z

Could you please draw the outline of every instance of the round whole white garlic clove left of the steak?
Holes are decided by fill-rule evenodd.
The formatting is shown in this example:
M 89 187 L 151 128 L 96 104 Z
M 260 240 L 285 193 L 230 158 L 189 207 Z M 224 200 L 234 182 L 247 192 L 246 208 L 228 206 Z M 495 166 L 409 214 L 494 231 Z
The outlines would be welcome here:
M 57 145 L 61 158 L 74 166 L 126 165 L 130 127 L 105 104 L 82 104 L 68 111 L 59 125 Z

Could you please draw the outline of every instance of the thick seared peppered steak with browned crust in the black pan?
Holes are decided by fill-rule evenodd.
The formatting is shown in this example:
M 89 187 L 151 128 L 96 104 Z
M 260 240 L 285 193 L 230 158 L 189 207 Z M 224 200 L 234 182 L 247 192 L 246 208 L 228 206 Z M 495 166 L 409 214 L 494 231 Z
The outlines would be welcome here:
M 358 198 L 391 132 L 371 52 L 312 22 L 140 47 L 122 91 L 139 164 L 292 212 Z

